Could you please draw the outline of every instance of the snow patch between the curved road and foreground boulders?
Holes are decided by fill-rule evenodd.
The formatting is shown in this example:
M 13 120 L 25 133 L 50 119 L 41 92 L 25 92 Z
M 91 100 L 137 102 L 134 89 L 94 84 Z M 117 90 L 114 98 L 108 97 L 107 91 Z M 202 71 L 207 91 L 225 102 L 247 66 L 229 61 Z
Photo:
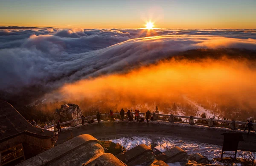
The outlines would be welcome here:
M 140 137 L 140 136 L 133 136 L 130 138 L 123 137 L 118 139 L 111 139 L 108 141 L 112 141 L 114 143 L 119 143 L 122 146 L 125 147 L 126 150 L 132 149 L 135 146 L 138 146 L 140 144 L 145 144 L 148 147 L 151 148 L 151 145 L 157 146 L 164 143 L 169 143 L 174 146 L 179 146 L 181 149 L 186 151 L 188 155 L 194 154 L 194 153 L 200 153 L 201 155 L 204 155 L 209 160 L 212 160 L 213 158 L 220 158 L 221 157 L 221 149 L 222 146 L 214 145 L 214 144 L 208 144 L 208 143 L 201 143 L 197 141 L 189 141 L 189 140 L 177 140 L 172 139 L 168 137 L 159 137 L 157 141 L 153 141 L 152 139 L 148 137 Z M 237 157 L 241 157 L 241 154 L 245 153 L 244 151 L 238 151 Z M 254 153 L 256 156 L 256 153 Z M 228 157 L 233 155 L 224 155 L 224 157 Z M 220 163 L 218 161 L 214 161 L 214 164 L 223 165 L 223 163 Z M 169 166 L 179 166 L 179 163 L 169 163 Z

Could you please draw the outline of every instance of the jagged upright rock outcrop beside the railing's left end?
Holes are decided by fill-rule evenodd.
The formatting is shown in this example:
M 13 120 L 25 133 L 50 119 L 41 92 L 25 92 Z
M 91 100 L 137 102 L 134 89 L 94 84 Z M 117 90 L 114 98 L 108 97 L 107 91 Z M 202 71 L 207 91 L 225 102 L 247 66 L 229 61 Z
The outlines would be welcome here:
M 81 118 L 82 112 L 81 108 L 79 108 L 76 104 L 63 104 L 60 109 L 56 109 L 54 113 L 54 120 L 57 122 L 60 120 L 71 121 L 73 119 Z

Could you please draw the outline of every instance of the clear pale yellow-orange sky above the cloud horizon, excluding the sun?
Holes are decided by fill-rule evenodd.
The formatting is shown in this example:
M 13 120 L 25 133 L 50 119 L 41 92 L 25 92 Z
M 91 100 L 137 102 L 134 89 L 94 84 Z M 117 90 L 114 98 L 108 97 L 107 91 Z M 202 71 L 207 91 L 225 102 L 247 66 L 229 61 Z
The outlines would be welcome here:
M 0 26 L 256 28 L 255 0 L 1 0 Z

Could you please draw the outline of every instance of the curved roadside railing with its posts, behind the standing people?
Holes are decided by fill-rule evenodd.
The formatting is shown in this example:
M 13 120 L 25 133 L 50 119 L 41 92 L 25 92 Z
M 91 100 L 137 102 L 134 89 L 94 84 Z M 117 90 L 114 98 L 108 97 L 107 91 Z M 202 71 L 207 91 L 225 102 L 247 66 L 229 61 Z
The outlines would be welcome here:
M 134 114 L 135 113 L 131 113 L 131 115 L 134 115 Z M 113 115 L 119 115 L 120 116 L 120 113 L 113 113 Z M 145 115 L 145 113 L 139 113 L 139 115 Z M 188 122 L 189 124 L 195 124 L 194 120 L 207 121 L 208 122 L 208 126 L 210 126 L 210 127 L 213 126 L 213 122 L 227 123 L 227 124 L 229 124 L 229 127 L 231 129 L 236 129 L 236 125 L 237 124 L 241 124 L 241 125 L 247 124 L 247 122 L 242 122 L 242 121 L 228 121 L 228 120 L 220 120 L 220 119 L 213 119 L 213 118 L 200 118 L 200 117 L 194 117 L 194 116 L 183 116 L 183 115 L 172 115 L 172 114 L 171 115 L 168 115 L 168 114 L 153 114 L 153 113 L 151 113 L 151 115 L 153 115 L 154 120 L 162 120 L 162 121 L 170 121 L 170 122 L 175 122 L 174 118 L 185 118 L 185 119 L 188 119 L 189 120 L 189 122 Z M 101 114 L 101 116 L 102 117 L 104 116 L 105 119 L 108 119 L 108 116 L 110 116 L 110 114 L 109 113 L 108 114 L 105 113 L 105 114 Z M 93 119 L 93 118 L 96 118 L 96 115 L 84 117 L 85 120 Z M 61 125 L 70 124 L 70 123 L 72 123 L 72 121 L 73 122 L 78 122 L 78 121 L 81 121 L 81 118 L 74 119 L 74 120 L 71 120 L 71 121 L 62 122 Z M 48 128 L 55 127 L 55 125 L 52 124 Z M 256 123 L 253 123 L 253 126 L 256 126 Z

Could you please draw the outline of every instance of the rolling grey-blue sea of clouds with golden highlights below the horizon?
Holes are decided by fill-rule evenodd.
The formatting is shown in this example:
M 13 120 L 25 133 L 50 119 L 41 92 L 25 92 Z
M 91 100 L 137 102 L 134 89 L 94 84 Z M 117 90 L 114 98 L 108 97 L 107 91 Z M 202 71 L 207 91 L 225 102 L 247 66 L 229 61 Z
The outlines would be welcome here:
M 2 29 L 0 92 L 58 88 L 197 48 L 256 50 L 256 30 Z

